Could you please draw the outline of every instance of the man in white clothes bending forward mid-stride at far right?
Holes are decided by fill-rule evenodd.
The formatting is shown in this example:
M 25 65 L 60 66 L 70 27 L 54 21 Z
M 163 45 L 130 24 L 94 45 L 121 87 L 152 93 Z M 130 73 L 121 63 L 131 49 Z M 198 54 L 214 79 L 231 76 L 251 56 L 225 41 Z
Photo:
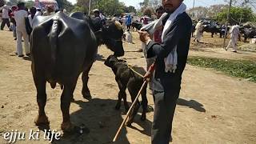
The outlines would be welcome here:
M 233 46 L 233 49 L 234 51 L 233 52 L 237 52 L 238 48 L 237 48 L 237 42 L 238 42 L 238 37 L 239 37 L 239 34 L 240 34 L 240 30 L 239 30 L 239 26 L 238 24 L 232 26 L 231 30 L 230 30 L 230 42 L 229 42 L 229 45 L 226 46 L 226 49 L 225 50 L 228 50 L 228 48 L 232 45 Z

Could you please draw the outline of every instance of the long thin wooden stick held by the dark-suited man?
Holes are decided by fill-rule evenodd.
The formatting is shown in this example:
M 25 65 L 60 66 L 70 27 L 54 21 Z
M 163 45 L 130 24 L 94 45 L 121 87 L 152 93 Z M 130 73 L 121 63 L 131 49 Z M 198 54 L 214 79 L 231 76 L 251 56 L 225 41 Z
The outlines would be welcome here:
M 121 132 L 122 127 L 124 126 L 124 124 L 125 124 L 125 122 L 126 122 L 126 119 L 129 117 L 130 112 L 131 112 L 131 110 L 133 109 L 133 107 L 135 106 L 135 103 L 136 103 L 137 100 L 138 100 L 139 94 L 142 93 L 142 90 L 143 90 L 144 86 L 146 85 L 146 83 L 147 83 L 147 82 L 144 81 L 144 83 L 142 84 L 141 90 L 138 91 L 138 94 L 137 94 L 136 98 L 134 99 L 133 104 L 130 106 L 130 109 L 128 110 L 128 112 L 127 112 L 127 114 L 126 114 L 126 118 L 122 120 L 122 124 L 121 124 L 121 126 L 119 127 L 117 133 L 116 133 L 115 136 L 114 136 L 113 142 L 115 142 L 115 141 L 117 140 L 118 135 L 119 135 L 119 133 Z

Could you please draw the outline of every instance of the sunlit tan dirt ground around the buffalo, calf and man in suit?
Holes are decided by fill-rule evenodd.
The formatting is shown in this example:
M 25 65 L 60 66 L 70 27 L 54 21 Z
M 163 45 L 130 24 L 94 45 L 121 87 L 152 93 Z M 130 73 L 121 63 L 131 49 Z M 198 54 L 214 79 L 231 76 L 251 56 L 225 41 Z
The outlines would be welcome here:
M 134 33 L 135 44 L 124 43 L 127 62 L 146 66 L 142 53 L 135 52 L 141 46 Z M 222 39 L 210 38 L 205 34 L 204 44 L 191 42 L 190 55 L 206 57 L 256 60 L 256 54 L 225 51 Z M 239 43 L 239 45 L 241 45 Z M 30 130 L 38 130 L 34 118 L 38 114 L 36 90 L 30 70 L 30 58 L 10 56 L 15 51 L 15 41 L 9 31 L 0 31 L 0 143 L 7 143 L 3 134 L 11 130 L 26 132 L 26 139 L 16 143 L 49 143 L 43 140 L 29 140 Z M 117 102 L 118 86 L 112 71 L 103 62 L 112 54 L 105 46 L 98 50 L 98 60 L 90 70 L 89 87 L 92 100 L 82 98 L 82 81 L 74 91 L 75 102 L 70 106 L 71 121 L 84 124 L 90 133 L 70 134 L 52 143 L 111 143 L 118 126 L 125 117 L 125 110 L 114 110 Z M 61 89 L 54 90 L 47 84 L 46 114 L 51 130 L 60 130 L 62 113 L 60 110 Z M 127 93 L 128 94 L 128 93 Z M 186 66 L 182 77 L 182 90 L 178 99 L 173 123 L 173 143 L 255 143 L 256 142 L 256 83 L 241 78 L 231 78 L 211 69 Z M 130 96 L 127 98 L 130 102 Z M 154 107 L 150 90 L 147 90 L 149 105 Z M 154 112 L 146 114 L 146 122 L 140 121 L 139 113 L 133 127 L 122 130 L 115 143 L 148 144 L 150 126 Z

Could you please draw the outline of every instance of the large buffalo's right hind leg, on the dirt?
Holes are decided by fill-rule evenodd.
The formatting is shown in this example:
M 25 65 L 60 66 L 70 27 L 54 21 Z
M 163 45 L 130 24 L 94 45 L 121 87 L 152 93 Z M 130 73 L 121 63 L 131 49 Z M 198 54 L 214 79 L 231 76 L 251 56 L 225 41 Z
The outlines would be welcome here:
M 64 90 L 62 91 L 61 97 L 61 109 L 62 109 L 62 130 L 71 131 L 74 126 L 70 122 L 70 102 L 73 98 L 74 88 L 76 86 L 76 81 L 74 83 L 64 85 Z

